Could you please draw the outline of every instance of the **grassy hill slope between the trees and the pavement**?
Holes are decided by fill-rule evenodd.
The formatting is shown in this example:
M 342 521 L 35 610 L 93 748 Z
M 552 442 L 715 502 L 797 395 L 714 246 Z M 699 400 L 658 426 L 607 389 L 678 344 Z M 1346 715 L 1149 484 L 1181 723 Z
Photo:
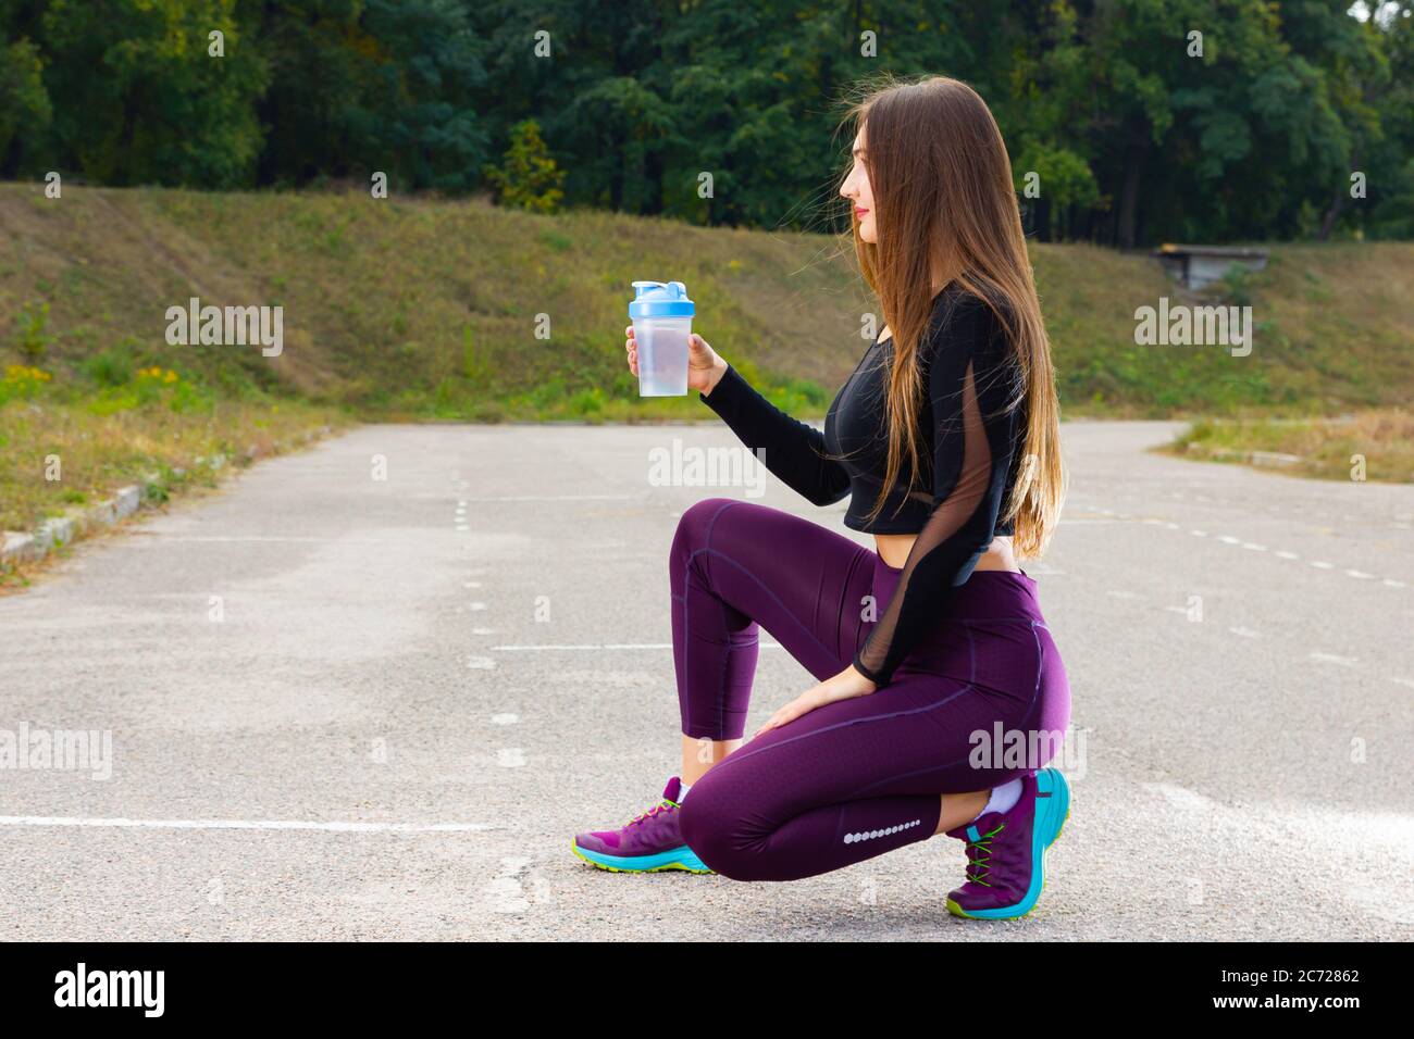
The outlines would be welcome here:
M 1266 271 L 1200 298 L 1145 254 L 1035 245 L 1032 263 L 1066 417 L 1260 420 L 1414 397 L 1414 243 L 1278 245 Z M 48 199 L 0 184 L 0 526 L 349 417 L 708 417 L 696 394 L 638 397 L 622 349 L 635 278 L 684 281 L 696 331 L 802 418 L 823 416 L 865 346 L 870 294 L 847 245 L 819 235 L 359 192 Z M 168 345 L 167 308 L 192 295 L 281 305 L 283 353 Z M 1250 303 L 1254 352 L 1135 345 L 1135 308 L 1161 295 Z M 40 476 L 51 452 L 74 462 L 65 486 Z

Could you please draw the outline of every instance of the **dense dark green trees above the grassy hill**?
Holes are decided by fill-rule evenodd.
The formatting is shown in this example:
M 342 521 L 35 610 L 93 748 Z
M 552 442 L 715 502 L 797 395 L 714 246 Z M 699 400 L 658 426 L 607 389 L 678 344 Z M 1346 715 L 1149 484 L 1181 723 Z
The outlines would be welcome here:
M 1357 7 L 0 0 L 0 178 L 385 172 L 540 211 L 824 229 L 843 216 L 840 102 L 882 74 L 945 74 L 993 106 L 1018 191 L 1039 177 L 1044 240 L 1410 237 L 1414 16 Z

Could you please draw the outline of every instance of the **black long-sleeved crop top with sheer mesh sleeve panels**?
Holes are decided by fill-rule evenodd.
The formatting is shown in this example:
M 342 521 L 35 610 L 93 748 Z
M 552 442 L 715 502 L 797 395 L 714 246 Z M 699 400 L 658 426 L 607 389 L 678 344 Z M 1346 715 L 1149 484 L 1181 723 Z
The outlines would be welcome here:
M 764 448 L 766 469 L 812 503 L 851 495 L 846 526 L 918 534 L 894 597 L 854 654 L 854 667 L 878 687 L 888 684 L 952 589 L 967 581 L 993 537 L 1012 533 L 1011 523 L 998 524 L 997 513 L 1017 478 L 1025 430 L 1024 403 L 1010 406 L 1021 375 L 1000 322 L 981 300 L 950 286 L 935 297 L 918 349 L 928 387 L 921 425 L 930 431 L 930 444 L 919 444 L 925 472 L 911 481 L 905 455 L 899 481 L 913 491 L 899 505 L 895 483 L 868 523 L 888 451 L 882 389 L 891 348 L 892 339 L 868 348 L 830 404 L 824 433 L 778 409 L 731 365 L 710 396 L 697 394 L 742 444 Z M 836 461 L 826 452 L 850 457 Z

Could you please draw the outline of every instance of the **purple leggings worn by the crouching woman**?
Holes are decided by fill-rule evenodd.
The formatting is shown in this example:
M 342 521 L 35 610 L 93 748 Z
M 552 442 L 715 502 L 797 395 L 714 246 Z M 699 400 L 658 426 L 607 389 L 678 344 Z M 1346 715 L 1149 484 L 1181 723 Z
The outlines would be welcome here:
M 690 507 L 672 548 L 683 732 L 744 735 L 759 628 L 817 680 L 843 671 L 899 573 L 779 509 L 727 498 Z M 689 847 L 737 881 L 814 876 L 932 837 L 940 793 L 1044 766 L 1070 721 L 1070 687 L 1035 585 L 974 570 L 888 686 L 717 762 L 683 802 Z

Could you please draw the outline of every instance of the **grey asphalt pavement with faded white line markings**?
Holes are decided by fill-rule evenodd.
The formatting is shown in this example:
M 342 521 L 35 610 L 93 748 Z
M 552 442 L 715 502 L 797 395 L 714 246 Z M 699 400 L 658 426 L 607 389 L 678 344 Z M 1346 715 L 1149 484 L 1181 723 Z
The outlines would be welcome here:
M 1144 451 L 1176 428 L 1063 425 L 1022 565 L 1075 800 L 1025 920 L 947 915 L 949 838 L 790 884 L 570 854 L 676 772 L 677 516 L 870 543 L 843 502 L 696 482 L 720 424 L 369 425 L 0 598 L 0 937 L 1414 939 L 1414 486 Z M 762 646 L 752 727 L 813 684 Z

